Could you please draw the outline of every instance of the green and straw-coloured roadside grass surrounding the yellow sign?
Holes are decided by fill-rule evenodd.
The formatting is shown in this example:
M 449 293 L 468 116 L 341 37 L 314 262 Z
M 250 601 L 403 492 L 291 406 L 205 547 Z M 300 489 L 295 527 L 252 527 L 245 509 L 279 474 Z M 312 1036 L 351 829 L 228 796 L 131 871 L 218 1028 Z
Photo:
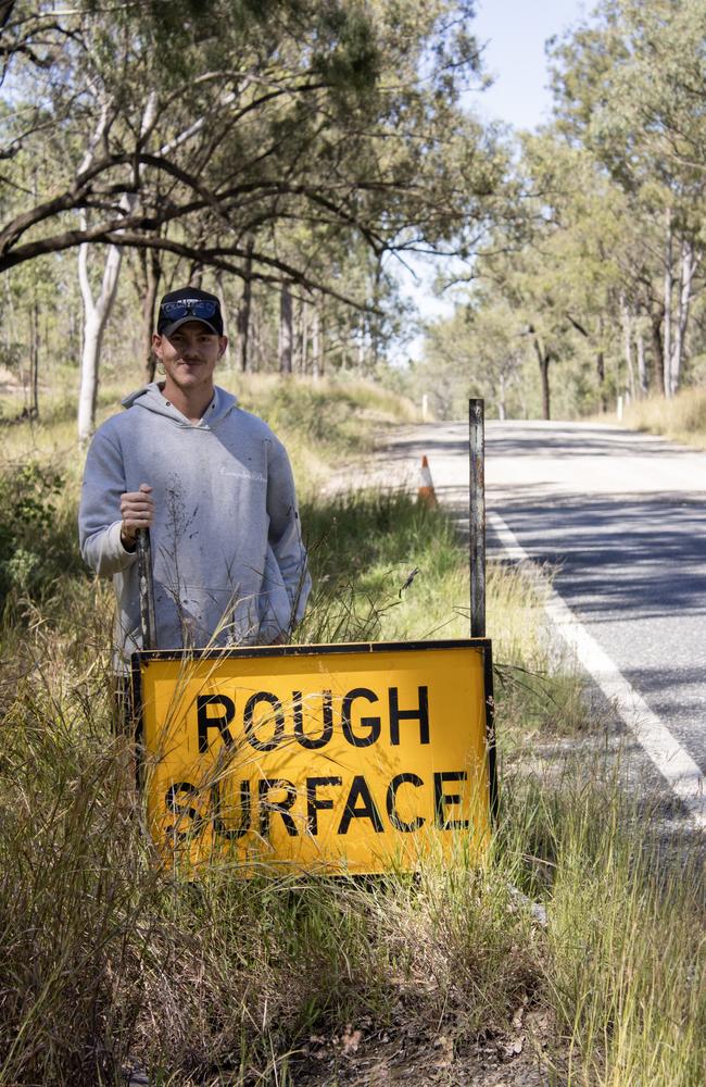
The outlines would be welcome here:
M 301 427 L 312 390 L 300 403 L 293 389 L 282 420 Z M 479 1038 L 521 1036 L 570 1087 L 701 1087 L 703 852 L 660 851 L 647 800 L 626 795 L 600 745 L 535 757 L 547 737 L 603 723 L 557 673 L 537 586 L 514 567 L 488 571 L 502 803 L 483 869 L 463 842 L 417 877 L 243 882 L 214 864 L 189 883 L 160 867 L 129 745 L 111 733 L 110 586 L 68 558 L 78 467 L 59 452 L 65 425 L 13 433 L 3 474 L 7 486 L 24 441 L 64 486 L 30 492 L 40 513 L 55 504 L 25 540 L 46 577 L 14 585 L 1 632 L 1 1087 L 118 1084 L 128 1060 L 173 1087 L 301 1087 L 322 1070 L 312 1052 L 354 1066 L 340 1054 L 355 1029 L 373 1051 L 387 1033 L 459 1061 Z M 326 441 L 332 457 L 351 448 Z M 302 520 L 316 589 L 300 640 L 466 634 L 466 552 L 439 511 L 312 488 Z

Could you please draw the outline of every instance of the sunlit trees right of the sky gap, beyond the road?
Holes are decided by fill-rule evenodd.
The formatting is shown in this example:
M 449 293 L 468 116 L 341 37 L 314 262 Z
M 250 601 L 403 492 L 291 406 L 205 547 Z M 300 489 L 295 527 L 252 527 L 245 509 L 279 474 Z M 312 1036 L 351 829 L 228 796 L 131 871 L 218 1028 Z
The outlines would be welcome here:
M 524 233 L 491 229 L 461 309 L 428 333 L 421 368 L 443 353 L 446 401 L 499 404 L 508 335 L 516 414 L 537 412 L 537 363 L 544 417 L 554 395 L 576 415 L 698 379 L 705 41 L 697 0 L 604 0 L 550 43 L 553 117 L 518 138 Z

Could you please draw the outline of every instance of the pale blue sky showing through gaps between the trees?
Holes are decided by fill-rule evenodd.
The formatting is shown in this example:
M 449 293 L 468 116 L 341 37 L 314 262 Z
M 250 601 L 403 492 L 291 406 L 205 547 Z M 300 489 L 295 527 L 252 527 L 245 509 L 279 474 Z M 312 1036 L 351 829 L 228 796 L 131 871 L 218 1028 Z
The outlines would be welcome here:
M 488 121 L 503 121 L 514 128 L 535 128 L 549 118 L 552 96 L 544 42 L 560 36 L 587 15 L 593 3 L 584 0 L 478 0 L 471 29 L 483 50 L 483 66 L 493 84 L 482 92 L 467 96 L 468 107 Z M 423 317 L 451 311 L 451 302 L 433 296 L 433 266 L 415 265 L 418 282 L 400 273 L 404 293 L 411 297 Z M 419 358 L 421 336 L 416 336 L 405 353 Z

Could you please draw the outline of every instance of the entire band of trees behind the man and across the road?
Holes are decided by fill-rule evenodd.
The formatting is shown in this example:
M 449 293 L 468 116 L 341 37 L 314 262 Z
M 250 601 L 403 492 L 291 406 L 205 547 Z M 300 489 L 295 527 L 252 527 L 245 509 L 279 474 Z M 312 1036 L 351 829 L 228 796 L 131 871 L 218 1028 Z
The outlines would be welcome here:
M 214 289 L 240 371 L 354 374 L 439 417 L 580 416 L 706 379 L 706 11 L 603 0 L 551 120 L 483 124 L 456 0 L 0 4 L 0 378 L 37 416 L 150 379 L 155 300 Z M 425 329 L 400 270 L 454 312 Z

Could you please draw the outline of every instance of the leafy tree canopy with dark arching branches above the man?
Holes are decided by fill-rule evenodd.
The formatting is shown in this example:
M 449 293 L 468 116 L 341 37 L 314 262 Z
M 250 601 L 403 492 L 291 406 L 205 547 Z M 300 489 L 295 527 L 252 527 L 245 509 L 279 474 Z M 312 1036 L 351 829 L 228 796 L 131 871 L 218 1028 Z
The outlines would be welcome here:
M 0 271 L 106 247 L 102 270 L 81 258 L 97 327 L 126 248 L 367 308 L 325 278 L 322 234 L 377 259 L 467 251 L 497 213 L 504 161 L 457 108 L 471 7 L 18 0 L 0 154 L 37 154 L 42 184 L 3 204 Z M 316 230 L 292 245 L 297 224 Z

